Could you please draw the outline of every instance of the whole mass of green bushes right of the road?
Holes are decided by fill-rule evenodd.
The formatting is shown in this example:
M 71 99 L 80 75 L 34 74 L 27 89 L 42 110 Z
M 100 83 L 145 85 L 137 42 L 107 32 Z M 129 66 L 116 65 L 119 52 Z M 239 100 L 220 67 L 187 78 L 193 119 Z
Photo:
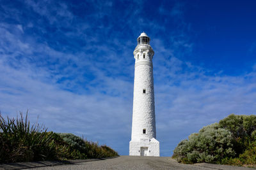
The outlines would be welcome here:
M 256 167 L 256 115 L 234 115 L 207 125 L 173 151 L 185 164 L 207 162 Z

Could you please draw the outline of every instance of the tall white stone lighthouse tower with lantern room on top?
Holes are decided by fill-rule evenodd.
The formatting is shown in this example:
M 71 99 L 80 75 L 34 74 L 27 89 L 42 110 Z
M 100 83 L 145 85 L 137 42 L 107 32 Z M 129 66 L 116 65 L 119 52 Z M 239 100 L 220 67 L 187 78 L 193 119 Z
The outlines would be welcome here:
M 133 52 L 135 69 L 129 155 L 159 157 L 152 65 L 154 51 L 145 32 L 140 34 L 137 41 L 138 45 Z

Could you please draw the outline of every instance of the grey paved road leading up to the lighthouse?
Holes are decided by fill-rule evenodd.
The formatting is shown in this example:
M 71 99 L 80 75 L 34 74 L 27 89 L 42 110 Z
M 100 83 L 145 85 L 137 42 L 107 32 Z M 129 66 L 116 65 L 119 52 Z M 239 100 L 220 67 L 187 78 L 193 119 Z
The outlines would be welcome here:
M 179 164 L 170 157 L 136 157 L 121 156 L 115 159 L 83 162 L 72 165 L 61 165 L 52 167 L 38 167 L 42 169 L 250 169 L 246 167 L 221 166 L 215 164 Z M 252 170 L 252 169 L 250 169 Z

